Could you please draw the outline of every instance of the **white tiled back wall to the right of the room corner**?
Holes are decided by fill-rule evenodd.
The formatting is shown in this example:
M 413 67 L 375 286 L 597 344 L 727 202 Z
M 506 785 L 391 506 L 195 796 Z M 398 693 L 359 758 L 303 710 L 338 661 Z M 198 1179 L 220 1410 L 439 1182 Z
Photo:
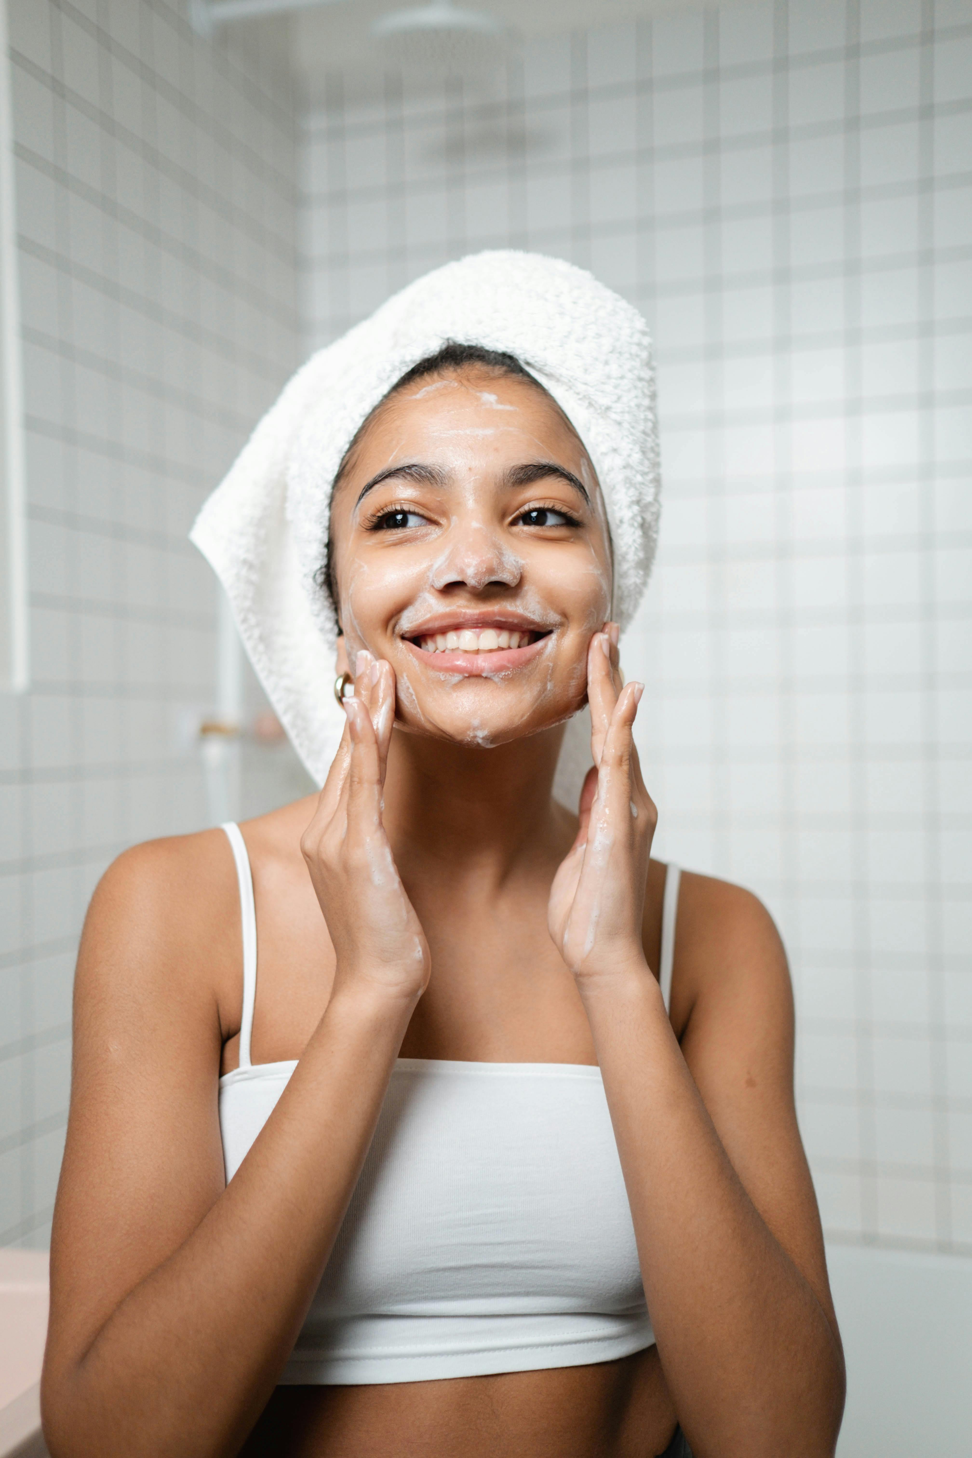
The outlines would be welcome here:
M 593 268 L 657 340 L 627 640 L 659 854 L 765 897 L 829 1233 L 972 1251 L 972 0 L 778 0 L 306 118 L 318 344 L 450 257 Z

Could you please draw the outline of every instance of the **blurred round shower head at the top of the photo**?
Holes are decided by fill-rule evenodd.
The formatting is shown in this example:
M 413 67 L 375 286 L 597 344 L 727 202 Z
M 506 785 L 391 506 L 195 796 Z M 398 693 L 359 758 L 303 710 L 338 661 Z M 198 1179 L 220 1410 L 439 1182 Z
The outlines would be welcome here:
M 510 34 L 501 20 L 452 0 L 392 10 L 373 22 L 372 35 L 393 64 L 446 74 L 497 66 L 510 48 Z

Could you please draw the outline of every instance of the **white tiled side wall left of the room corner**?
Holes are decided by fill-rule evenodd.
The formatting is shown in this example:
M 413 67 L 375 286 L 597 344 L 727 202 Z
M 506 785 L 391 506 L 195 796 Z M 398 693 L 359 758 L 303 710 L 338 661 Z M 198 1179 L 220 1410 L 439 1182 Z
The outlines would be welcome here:
M 34 690 L 0 695 L 0 1245 L 42 1245 L 92 886 L 205 822 L 178 729 L 213 704 L 216 589 L 187 531 L 297 360 L 296 121 L 181 0 L 9 12 Z

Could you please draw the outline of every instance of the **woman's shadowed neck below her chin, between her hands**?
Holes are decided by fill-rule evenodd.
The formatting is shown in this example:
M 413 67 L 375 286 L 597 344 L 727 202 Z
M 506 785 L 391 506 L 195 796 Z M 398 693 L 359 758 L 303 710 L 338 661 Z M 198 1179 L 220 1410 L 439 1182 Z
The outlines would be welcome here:
M 399 865 L 434 862 L 437 879 L 475 872 L 490 889 L 538 856 L 561 856 L 568 816 L 552 787 L 564 726 L 493 749 L 395 730 L 385 825 Z

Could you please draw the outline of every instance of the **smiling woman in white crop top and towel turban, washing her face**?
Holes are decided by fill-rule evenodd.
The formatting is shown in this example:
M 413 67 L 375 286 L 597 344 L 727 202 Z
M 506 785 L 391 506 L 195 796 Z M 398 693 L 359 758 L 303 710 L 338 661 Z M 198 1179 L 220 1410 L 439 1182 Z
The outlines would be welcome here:
M 750 895 L 650 860 L 614 615 L 653 545 L 643 325 L 523 255 L 376 321 L 197 528 L 312 767 L 302 652 L 337 628 L 344 728 L 319 796 L 95 894 L 50 1449 L 832 1454 L 783 949 Z

